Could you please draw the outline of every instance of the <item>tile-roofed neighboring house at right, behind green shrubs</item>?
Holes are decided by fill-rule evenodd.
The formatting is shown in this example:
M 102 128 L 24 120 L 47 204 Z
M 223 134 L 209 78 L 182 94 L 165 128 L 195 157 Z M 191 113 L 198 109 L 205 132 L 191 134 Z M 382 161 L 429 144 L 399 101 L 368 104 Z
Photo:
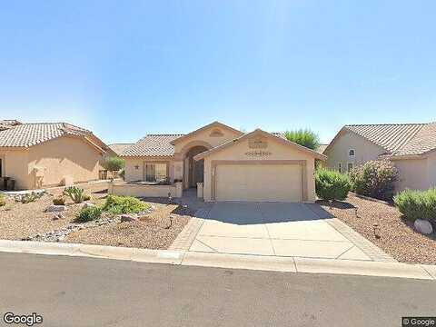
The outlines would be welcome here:
M 345 125 L 323 154 L 326 165 L 342 173 L 390 159 L 400 173 L 396 191 L 436 186 L 436 123 Z

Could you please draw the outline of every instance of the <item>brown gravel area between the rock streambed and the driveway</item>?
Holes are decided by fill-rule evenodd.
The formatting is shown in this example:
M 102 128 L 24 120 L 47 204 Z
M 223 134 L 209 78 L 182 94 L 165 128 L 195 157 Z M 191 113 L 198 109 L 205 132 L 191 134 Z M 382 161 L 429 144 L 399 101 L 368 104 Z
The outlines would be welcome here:
M 65 242 L 167 249 L 188 223 L 191 213 L 176 204 L 153 203 L 153 206 L 152 213 L 137 221 L 109 223 L 71 233 Z

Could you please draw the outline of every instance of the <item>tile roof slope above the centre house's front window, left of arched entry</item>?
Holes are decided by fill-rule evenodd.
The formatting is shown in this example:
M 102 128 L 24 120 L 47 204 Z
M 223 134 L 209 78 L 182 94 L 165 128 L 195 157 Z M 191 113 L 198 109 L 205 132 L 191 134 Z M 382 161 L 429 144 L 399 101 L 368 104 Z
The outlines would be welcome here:
M 171 142 L 182 135 L 148 134 L 125 149 L 121 156 L 173 156 L 174 145 Z

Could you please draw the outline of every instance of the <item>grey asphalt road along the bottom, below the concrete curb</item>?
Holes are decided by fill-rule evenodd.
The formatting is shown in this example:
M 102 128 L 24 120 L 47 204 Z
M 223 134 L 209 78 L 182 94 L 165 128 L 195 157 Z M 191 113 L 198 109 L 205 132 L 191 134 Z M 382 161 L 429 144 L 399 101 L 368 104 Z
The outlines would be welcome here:
M 436 282 L 0 253 L 0 312 L 56 327 L 401 326 L 436 315 Z

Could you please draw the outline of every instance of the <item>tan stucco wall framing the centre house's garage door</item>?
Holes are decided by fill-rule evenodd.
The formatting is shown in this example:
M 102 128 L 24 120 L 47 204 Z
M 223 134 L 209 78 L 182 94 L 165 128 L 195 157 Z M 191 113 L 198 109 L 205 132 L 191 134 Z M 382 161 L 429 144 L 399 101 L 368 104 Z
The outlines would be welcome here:
M 270 152 L 271 155 L 264 157 L 253 157 L 246 155 L 248 151 L 255 151 L 255 149 L 249 148 L 248 139 L 243 140 L 241 143 L 234 144 L 222 151 L 210 154 L 204 158 L 204 186 L 203 197 L 204 201 L 212 200 L 212 162 L 215 160 L 231 160 L 231 161 L 245 161 L 245 160 L 302 160 L 306 162 L 306 184 L 307 184 L 307 201 L 315 201 L 315 180 L 314 180 L 314 158 L 310 154 L 306 154 L 298 150 L 293 149 L 291 146 L 280 144 L 274 141 L 272 138 L 268 139 L 268 146 L 263 151 Z M 232 187 L 232 185 L 229 185 Z

